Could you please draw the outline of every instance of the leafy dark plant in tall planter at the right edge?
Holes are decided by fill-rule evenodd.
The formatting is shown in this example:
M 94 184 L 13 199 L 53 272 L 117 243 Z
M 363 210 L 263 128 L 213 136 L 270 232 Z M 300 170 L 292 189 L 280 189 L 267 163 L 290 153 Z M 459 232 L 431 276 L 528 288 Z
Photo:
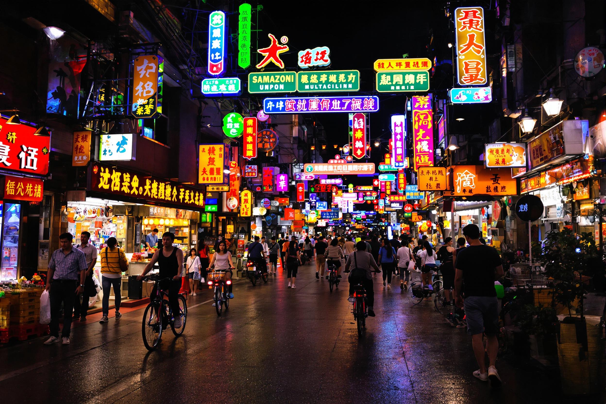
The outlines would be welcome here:
M 600 391 L 603 343 L 599 326 L 584 316 L 589 280 L 603 272 L 591 233 L 580 236 L 568 228 L 552 231 L 540 249 L 545 275 L 553 279 L 551 305 L 564 306 L 568 316 L 559 323 L 558 360 L 565 394 Z

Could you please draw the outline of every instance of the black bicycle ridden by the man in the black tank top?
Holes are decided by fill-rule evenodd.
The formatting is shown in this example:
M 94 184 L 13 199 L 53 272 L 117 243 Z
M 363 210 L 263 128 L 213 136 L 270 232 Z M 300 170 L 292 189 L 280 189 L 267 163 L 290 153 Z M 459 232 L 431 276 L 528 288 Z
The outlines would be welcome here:
M 187 302 L 181 294 L 179 300 L 179 315 L 181 316 L 181 327 L 175 328 L 175 318 L 173 317 L 170 305 L 166 303 L 168 293 L 161 290 L 159 283 L 165 280 L 170 282 L 171 278 L 159 279 L 157 276 L 146 276 L 143 280 L 151 280 L 156 287 L 156 296 L 151 297 L 151 302 L 145 308 L 143 321 L 141 324 L 141 334 L 145 348 L 149 351 L 156 349 L 162 339 L 162 331 L 170 325 L 170 328 L 176 337 L 181 336 L 185 330 L 185 322 L 187 321 Z

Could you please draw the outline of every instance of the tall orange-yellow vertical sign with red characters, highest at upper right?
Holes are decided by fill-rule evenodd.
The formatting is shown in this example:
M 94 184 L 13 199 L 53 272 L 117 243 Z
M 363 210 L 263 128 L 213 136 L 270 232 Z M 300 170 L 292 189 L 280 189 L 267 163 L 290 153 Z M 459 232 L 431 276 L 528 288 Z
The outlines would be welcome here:
M 482 7 L 456 8 L 454 10 L 454 31 L 459 84 L 486 84 L 486 42 Z

